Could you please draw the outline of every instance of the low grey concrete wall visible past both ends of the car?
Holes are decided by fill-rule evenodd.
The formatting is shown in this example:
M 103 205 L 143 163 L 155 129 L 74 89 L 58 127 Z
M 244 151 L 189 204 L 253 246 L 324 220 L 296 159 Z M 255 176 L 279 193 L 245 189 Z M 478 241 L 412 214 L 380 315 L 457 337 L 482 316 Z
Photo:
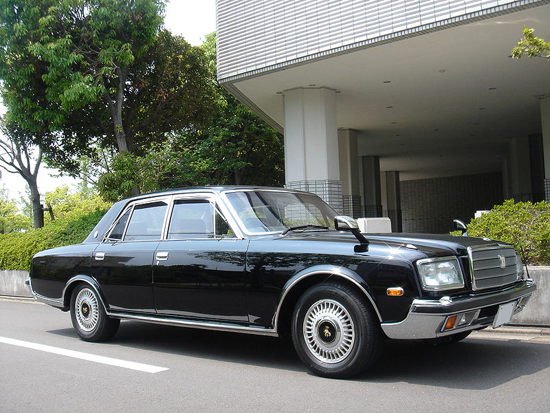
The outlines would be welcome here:
M 512 324 L 523 326 L 550 326 L 550 266 L 529 266 L 529 276 L 537 283 L 537 290 L 527 307 L 514 315 Z M 0 270 L 0 295 L 32 297 L 25 279 L 27 271 Z

